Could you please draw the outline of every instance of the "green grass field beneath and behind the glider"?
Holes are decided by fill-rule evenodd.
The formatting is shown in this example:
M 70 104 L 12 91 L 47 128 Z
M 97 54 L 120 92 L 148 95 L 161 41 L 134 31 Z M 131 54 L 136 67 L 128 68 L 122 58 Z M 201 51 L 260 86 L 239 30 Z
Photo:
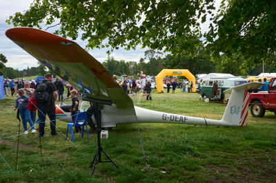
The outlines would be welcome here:
M 226 105 L 204 103 L 198 94 L 152 94 L 153 100 L 139 95 L 135 105 L 168 113 L 221 119 Z M 140 100 L 141 99 L 141 100 Z M 12 110 L 15 98 L 0 100 L 0 136 L 18 133 Z M 248 115 L 247 127 L 205 127 L 175 124 L 118 125 L 101 140 L 103 149 L 116 162 L 97 164 L 95 176 L 89 168 L 97 150 L 95 133 L 66 141 L 66 122 L 57 121 L 60 135 L 50 136 L 50 125 L 41 139 L 38 133 L 20 136 L 16 173 L 0 174 L 0 182 L 275 182 L 276 116 Z M 21 125 L 22 126 L 22 125 Z M 21 128 L 21 133 L 23 132 Z M 17 138 L 0 139 L 0 153 L 14 170 Z M 0 172 L 9 171 L 0 158 Z

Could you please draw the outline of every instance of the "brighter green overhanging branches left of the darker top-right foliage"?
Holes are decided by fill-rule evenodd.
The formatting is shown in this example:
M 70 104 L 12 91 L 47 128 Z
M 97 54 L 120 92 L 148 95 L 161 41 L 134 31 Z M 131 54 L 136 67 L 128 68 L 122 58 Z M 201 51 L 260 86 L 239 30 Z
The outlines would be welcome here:
M 83 32 L 81 39 L 88 41 L 88 48 L 121 46 L 129 50 L 142 44 L 154 50 L 193 52 L 200 36 L 197 19 L 205 21 L 206 13 L 215 9 L 213 5 L 214 0 L 37 0 L 7 22 L 41 28 L 42 23 L 54 26 L 58 20 L 56 34 L 75 40 Z

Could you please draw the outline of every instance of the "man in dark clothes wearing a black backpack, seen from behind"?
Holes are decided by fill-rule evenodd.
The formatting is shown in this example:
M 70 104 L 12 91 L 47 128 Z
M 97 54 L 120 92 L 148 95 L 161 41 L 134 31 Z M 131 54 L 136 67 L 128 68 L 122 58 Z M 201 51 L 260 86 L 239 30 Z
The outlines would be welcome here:
M 34 100 L 38 104 L 39 114 L 39 137 L 43 137 L 45 131 L 46 114 L 50 118 L 51 135 L 57 136 L 56 132 L 56 107 L 55 101 L 57 100 L 57 88 L 52 83 L 53 76 L 50 73 L 45 75 L 45 79 L 37 83 L 34 87 Z

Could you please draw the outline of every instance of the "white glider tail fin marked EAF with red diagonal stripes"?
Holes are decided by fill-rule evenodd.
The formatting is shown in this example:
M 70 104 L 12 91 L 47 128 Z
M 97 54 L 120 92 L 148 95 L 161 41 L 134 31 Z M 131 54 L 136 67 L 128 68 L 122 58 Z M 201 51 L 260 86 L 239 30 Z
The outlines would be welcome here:
M 245 127 L 248 121 L 248 103 L 249 92 L 247 91 L 255 85 L 244 84 L 237 87 L 227 89 L 225 92 L 232 93 L 230 95 L 228 105 L 224 111 L 221 121 L 230 126 Z

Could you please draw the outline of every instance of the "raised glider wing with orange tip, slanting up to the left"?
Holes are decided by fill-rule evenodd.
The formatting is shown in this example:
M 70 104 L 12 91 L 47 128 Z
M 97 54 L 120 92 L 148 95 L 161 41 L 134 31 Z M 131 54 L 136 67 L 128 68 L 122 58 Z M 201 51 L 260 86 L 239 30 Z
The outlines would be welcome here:
M 6 36 L 84 96 L 112 103 L 121 115 L 135 116 L 131 98 L 103 65 L 77 43 L 34 28 L 12 28 Z

